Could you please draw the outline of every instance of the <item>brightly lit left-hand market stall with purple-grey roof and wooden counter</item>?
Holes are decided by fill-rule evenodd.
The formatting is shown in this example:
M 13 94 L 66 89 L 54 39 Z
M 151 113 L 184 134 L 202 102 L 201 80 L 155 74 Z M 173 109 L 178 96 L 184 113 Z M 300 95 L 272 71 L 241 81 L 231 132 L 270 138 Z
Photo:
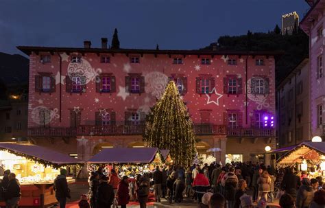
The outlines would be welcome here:
M 60 167 L 82 163 L 66 154 L 40 146 L 0 143 L 0 166 L 16 174 L 21 183 L 20 207 L 47 207 L 57 203 L 53 181 Z M 2 179 L 3 176 L 0 176 Z M 69 183 L 73 178 L 67 177 Z M 4 203 L 0 203 L 0 206 Z

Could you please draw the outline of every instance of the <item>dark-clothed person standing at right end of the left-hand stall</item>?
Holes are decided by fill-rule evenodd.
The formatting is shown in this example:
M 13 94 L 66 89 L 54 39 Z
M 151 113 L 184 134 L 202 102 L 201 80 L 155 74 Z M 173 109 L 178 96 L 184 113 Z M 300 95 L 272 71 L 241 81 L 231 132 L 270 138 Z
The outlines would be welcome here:
M 60 175 L 56 176 L 54 180 L 54 191 L 56 191 L 56 200 L 60 203 L 60 208 L 65 208 L 67 198 L 71 198 L 70 189 L 67 182 L 67 170 L 62 168 Z

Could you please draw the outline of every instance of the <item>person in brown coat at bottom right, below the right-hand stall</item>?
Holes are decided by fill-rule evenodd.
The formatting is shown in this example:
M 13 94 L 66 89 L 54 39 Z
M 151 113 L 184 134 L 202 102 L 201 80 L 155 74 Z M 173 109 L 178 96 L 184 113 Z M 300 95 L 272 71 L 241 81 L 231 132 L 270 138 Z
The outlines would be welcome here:
M 302 185 L 298 189 L 296 207 L 306 208 L 309 207 L 311 201 L 313 200 L 313 187 L 311 186 L 311 181 L 309 178 L 302 178 Z

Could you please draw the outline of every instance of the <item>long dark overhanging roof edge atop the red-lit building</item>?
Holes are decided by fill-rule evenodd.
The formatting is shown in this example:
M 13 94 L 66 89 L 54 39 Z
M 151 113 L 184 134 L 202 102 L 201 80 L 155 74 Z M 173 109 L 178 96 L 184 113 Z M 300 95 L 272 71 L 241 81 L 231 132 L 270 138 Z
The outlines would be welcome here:
M 223 50 L 157 50 L 157 49 L 103 49 L 103 48 L 84 48 L 84 47 L 38 47 L 38 46 L 17 46 L 23 53 L 30 55 L 32 52 L 54 53 L 95 53 L 95 54 L 167 54 L 167 55 L 260 55 L 276 56 L 282 55 L 283 51 L 223 51 Z

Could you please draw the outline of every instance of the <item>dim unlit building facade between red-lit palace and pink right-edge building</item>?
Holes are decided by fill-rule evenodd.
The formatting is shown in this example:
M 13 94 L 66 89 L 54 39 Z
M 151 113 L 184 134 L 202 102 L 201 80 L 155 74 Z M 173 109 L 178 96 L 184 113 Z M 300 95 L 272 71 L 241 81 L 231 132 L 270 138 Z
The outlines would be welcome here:
M 309 59 L 291 71 L 277 87 L 278 148 L 311 139 Z

